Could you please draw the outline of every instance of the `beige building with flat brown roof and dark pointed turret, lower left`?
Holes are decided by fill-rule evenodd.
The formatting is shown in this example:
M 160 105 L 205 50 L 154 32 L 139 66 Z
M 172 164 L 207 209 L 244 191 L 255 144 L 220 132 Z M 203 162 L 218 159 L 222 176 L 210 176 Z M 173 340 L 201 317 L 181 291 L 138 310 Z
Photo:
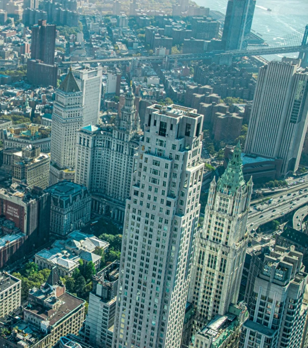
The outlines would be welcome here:
M 66 292 L 54 267 L 39 289 L 29 290 L 28 306 L 2 320 L 2 327 L 7 330 L 0 334 L 0 345 L 51 348 L 60 337 L 77 335 L 84 316 L 85 300 Z

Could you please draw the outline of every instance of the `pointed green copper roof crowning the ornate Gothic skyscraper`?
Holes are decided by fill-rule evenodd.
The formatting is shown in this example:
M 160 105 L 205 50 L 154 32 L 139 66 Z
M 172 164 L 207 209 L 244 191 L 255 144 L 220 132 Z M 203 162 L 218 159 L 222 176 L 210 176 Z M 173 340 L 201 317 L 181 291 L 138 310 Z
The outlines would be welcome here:
M 239 186 L 245 184 L 243 171 L 242 171 L 242 160 L 241 160 L 241 147 L 240 143 L 235 146 L 233 156 L 228 163 L 223 175 L 218 180 L 217 189 L 225 193 L 234 193 L 237 191 Z

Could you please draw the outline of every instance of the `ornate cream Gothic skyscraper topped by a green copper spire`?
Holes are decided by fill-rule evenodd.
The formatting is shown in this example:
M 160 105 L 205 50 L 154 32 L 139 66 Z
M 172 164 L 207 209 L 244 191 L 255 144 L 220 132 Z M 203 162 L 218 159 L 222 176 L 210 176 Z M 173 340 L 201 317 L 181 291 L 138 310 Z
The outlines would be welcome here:
M 251 193 L 252 179 L 244 182 L 238 144 L 221 178 L 211 183 L 203 227 L 196 234 L 188 301 L 195 306 L 197 328 L 237 303 Z

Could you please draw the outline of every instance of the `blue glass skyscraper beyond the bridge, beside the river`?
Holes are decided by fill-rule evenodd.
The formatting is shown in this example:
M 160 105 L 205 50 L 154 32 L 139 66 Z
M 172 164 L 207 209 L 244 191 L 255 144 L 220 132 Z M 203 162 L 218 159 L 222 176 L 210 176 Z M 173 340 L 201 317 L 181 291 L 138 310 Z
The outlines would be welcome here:
M 229 0 L 221 43 L 225 51 L 247 47 L 256 0 Z

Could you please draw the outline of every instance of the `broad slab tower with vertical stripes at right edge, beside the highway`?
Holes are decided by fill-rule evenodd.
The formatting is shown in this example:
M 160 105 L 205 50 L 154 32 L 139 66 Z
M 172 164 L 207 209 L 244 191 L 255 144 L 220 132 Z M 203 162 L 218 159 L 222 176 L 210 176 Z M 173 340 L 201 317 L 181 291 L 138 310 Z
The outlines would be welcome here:
M 244 152 L 281 159 L 276 176 L 292 175 L 300 160 L 307 114 L 308 72 L 282 62 L 260 68 Z

